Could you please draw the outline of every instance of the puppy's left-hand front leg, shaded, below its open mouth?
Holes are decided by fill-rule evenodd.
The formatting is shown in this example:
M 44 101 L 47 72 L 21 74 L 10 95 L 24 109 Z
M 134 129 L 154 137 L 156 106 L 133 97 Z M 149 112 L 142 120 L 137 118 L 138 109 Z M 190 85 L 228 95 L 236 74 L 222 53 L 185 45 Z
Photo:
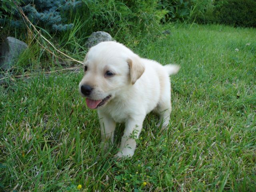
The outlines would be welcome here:
M 114 131 L 116 129 L 116 122 L 108 115 L 98 110 L 100 119 L 100 133 L 102 138 L 103 148 L 109 148 L 109 144 L 114 142 Z

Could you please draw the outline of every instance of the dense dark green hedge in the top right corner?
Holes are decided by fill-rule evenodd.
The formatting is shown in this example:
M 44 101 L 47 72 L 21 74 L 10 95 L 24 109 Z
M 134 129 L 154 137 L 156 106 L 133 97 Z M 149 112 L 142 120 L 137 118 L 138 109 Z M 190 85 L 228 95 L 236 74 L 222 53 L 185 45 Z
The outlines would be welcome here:
M 231 26 L 256 27 L 255 0 L 218 1 L 214 10 L 216 22 Z

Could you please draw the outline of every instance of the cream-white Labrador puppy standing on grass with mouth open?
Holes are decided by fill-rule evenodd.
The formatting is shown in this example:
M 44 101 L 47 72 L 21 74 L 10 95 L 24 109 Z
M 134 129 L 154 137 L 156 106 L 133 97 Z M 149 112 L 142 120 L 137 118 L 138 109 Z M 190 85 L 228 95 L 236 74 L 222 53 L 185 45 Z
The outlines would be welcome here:
M 101 42 L 88 51 L 79 92 L 90 109 L 97 109 L 104 148 L 114 141 L 116 122 L 125 122 L 120 152 L 116 157 L 131 157 L 145 116 L 155 110 L 158 126 L 166 127 L 171 112 L 171 74 L 176 65 L 162 66 L 140 58 L 118 42 Z

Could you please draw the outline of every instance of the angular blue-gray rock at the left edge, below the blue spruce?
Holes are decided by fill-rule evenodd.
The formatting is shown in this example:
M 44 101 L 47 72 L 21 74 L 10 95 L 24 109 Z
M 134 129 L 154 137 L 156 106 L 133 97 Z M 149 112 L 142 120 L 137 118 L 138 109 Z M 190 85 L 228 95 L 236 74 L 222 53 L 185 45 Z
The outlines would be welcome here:
M 0 68 L 10 69 L 18 56 L 27 48 L 27 44 L 14 38 L 7 37 L 0 47 Z

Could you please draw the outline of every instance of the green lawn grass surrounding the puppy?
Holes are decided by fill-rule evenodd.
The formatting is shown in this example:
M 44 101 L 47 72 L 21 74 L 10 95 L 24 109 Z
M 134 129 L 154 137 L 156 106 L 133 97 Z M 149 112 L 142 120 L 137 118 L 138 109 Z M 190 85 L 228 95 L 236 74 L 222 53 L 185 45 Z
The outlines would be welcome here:
M 127 43 L 182 66 L 171 77 L 168 130 L 149 114 L 131 160 L 100 150 L 97 113 L 78 95 L 82 70 L 0 86 L 0 191 L 255 191 L 256 30 L 166 29 L 154 42 Z

